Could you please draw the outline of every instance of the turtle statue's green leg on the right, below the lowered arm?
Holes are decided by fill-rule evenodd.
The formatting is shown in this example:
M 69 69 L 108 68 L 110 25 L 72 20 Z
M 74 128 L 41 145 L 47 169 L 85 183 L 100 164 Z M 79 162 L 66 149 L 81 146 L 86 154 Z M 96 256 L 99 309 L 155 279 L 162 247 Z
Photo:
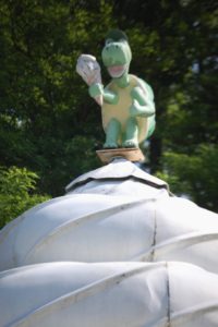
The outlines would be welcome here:
M 138 147 L 138 125 L 137 120 L 134 117 L 129 118 L 126 122 L 126 130 L 122 146 Z

